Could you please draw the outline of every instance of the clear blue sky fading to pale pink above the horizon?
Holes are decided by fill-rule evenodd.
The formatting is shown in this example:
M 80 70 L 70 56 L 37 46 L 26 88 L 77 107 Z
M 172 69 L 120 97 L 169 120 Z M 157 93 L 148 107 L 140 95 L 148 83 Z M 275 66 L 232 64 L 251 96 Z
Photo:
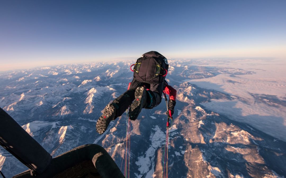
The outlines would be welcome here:
M 0 0 L 0 71 L 139 58 L 286 60 L 286 1 Z

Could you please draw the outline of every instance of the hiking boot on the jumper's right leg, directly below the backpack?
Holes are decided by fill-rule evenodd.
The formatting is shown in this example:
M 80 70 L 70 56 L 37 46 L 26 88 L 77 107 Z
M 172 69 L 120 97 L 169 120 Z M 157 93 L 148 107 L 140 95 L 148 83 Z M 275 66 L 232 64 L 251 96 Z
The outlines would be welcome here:
M 129 108 L 129 118 L 135 120 L 142 108 L 147 104 L 147 92 L 144 87 L 135 90 L 135 99 Z

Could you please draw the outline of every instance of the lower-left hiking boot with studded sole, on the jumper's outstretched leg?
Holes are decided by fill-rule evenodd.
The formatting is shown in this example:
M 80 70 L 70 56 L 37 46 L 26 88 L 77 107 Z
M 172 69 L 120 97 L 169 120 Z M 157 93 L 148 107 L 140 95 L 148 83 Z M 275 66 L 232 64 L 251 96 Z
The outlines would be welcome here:
M 104 108 L 102 116 L 96 122 L 96 131 L 103 134 L 107 129 L 110 121 L 115 120 L 116 109 L 114 105 L 109 104 Z

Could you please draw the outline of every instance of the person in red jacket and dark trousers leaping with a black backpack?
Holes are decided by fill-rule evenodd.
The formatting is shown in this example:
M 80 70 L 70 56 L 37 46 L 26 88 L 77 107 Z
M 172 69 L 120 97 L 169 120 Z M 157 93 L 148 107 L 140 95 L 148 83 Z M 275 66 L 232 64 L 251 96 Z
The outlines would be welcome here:
M 103 134 L 110 121 L 121 116 L 128 107 L 129 118 L 136 120 L 142 108 L 152 109 L 158 106 L 163 92 L 169 95 L 166 114 L 172 117 L 174 113 L 177 91 L 165 80 L 169 67 L 167 59 L 156 51 L 150 51 L 138 58 L 132 66 L 130 69 L 134 71 L 133 80 L 127 91 L 108 104 L 96 122 L 96 131 L 99 134 Z

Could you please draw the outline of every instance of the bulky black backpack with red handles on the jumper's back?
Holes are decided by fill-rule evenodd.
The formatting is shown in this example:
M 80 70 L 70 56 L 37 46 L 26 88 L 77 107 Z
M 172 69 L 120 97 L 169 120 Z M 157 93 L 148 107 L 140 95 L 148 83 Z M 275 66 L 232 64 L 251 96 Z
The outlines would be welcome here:
M 133 70 L 131 67 L 134 66 Z M 162 83 L 168 73 L 167 59 L 156 51 L 150 51 L 138 58 L 136 64 L 130 66 L 135 80 L 144 83 Z

